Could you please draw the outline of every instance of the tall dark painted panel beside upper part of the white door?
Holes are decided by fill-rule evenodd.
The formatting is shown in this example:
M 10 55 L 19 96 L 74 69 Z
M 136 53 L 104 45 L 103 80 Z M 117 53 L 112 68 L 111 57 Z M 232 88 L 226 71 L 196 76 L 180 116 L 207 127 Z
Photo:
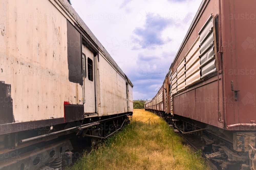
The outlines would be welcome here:
M 68 79 L 83 85 L 82 40 L 78 30 L 67 20 L 68 37 Z

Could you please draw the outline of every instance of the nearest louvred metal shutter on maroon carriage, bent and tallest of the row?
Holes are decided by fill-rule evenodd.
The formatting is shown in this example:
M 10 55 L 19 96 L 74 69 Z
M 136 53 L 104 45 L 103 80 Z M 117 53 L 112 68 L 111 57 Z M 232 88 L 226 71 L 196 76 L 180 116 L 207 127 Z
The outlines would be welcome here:
M 216 72 L 215 57 L 216 55 L 216 37 L 214 16 L 210 16 L 201 30 L 200 35 L 200 69 L 201 77 L 204 79 Z

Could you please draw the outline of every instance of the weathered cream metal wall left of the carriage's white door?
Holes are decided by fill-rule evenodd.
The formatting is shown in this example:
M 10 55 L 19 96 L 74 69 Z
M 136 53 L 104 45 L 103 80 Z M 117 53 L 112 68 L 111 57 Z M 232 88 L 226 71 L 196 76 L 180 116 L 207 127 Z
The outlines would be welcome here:
M 83 104 L 81 85 L 69 81 L 66 17 L 50 1 L 4 0 L 0 11 L 0 42 L 12 42 L 0 46 L 0 81 L 11 85 L 15 122 L 63 118 L 64 101 Z

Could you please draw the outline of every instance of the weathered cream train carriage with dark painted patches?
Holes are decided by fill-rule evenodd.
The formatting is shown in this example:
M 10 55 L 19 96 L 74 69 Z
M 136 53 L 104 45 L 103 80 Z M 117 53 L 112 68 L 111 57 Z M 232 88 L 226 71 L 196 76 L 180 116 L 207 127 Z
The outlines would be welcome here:
M 69 139 L 129 122 L 133 84 L 67 0 L 3 0 L 0 17 L 0 169 L 61 169 Z

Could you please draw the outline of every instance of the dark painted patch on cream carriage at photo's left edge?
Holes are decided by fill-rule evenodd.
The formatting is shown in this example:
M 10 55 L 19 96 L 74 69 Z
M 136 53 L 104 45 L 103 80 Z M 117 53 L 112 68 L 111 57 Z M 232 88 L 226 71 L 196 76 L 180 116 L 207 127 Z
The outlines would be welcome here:
M 13 99 L 11 85 L 0 81 L 0 124 L 13 123 Z

